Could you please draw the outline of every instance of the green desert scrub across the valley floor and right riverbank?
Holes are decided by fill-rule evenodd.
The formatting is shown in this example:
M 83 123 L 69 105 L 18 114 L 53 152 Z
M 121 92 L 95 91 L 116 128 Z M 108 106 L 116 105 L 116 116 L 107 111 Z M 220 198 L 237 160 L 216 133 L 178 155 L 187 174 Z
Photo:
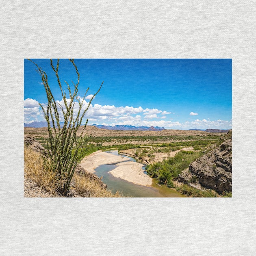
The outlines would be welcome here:
M 164 159 L 162 162 L 153 163 L 146 167 L 146 171 L 152 178 L 157 178 L 159 184 L 165 184 L 169 188 L 175 188 L 182 194 L 186 194 L 191 197 L 216 197 L 218 194 L 212 190 L 202 191 L 195 189 L 187 184 L 182 184 L 180 187 L 176 187 L 174 184 L 179 174 L 195 159 L 199 158 L 203 154 L 208 152 L 208 148 L 212 148 L 214 143 L 221 141 L 219 135 L 208 136 L 137 136 L 137 137 L 90 137 L 86 146 L 82 146 L 80 149 L 80 159 L 97 151 L 118 149 L 128 150 L 135 149 L 135 158 L 137 161 L 145 161 L 145 158 L 149 158 L 150 161 L 154 161 L 155 154 L 163 153 L 167 154 L 180 150 L 174 157 Z M 42 145 L 46 147 L 47 139 L 41 137 L 37 138 Z M 166 142 L 169 139 L 170 142 Z M 159 141 L 165 141 L 159 143 Z M 139 145 L 135 145 L 134 141 L 139 142 Z M 158 142 L 153 144 L 151 141 Z M 133 142 L 133 143 L 129 143 Z M 104 145 L 104 143 L 106 143 Z M 182 148 L 191 147 L 193 151 L 184 151 Z M 74 151 L 73 151 L 74 154 Z M 213 166 L 215 168 L 215 166 Z M 198 178 L 192 176 L 191 183 L 196 183 Z M 221 195 L 222 197 L 230 197 L 230 193 Z M 232 193 L 231 193 L 232 197 Z

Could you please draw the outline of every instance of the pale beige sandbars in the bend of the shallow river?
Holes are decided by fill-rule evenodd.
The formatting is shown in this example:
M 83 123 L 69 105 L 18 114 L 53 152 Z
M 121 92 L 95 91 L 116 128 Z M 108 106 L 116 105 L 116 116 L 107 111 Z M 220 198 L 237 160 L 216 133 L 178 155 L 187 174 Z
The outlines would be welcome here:
M 143 173 L 141 168 L 143 165 L 127 160 L 128 158 L 124 156 L 115 156 L 110 153 L 97 151 L 83 158 L 80 165 L 90 173 L 93 173 L 95 172 L 94 169 L 100 165 L 117 163 L 117 167 L 110 171 L 113 176 L 143 186 L 151 185 L 152 178 Z

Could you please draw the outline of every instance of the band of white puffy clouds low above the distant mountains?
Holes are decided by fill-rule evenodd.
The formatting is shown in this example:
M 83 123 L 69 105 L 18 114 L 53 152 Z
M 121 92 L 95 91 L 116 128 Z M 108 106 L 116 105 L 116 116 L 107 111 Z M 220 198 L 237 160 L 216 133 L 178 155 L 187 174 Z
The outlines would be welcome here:
M 88 95 L 89 96 L 89 95 Z M 81 100 L 81 99 L 80 99 Z M 69 104 L 70 99 L 67 99 Z M 59 108 L 60 121 L 63 121 L 63 115 L 61 114 L 61 108 L 65 111 L 64 100 L 56 100 Z M 46 107 L 46 104 L 42 105 Z M 84 101 L 82 111 L 88 106 L 87 100 Z M 78 102 L 74 103 L 74 117 L 76 117 L 79 110 Z M 158 114 L 160 114 L 158 117 Z M 216 128 L 216 129 L 229 129 L 231 128 L 231 120 L 224 121 L 218 119 L 216 121 L 210 121 L 210 119 L 195 119 L 193 121 L 179 122 L 167 118 L 165 115 L 171 112 L 162 111 L 157 108 L 145 108 L 141 106 L 114 106 L 114 105 L 90 105 L 88 111 L 85 114 L 85 119 L 89 118 L 89 124 L 106 124 L 115 126 L 120 125 L 133 125 L 133 126 L 160 126 L 166 129 L 192 129 L 192 128 Z M 165 114 L 165 115 L 164 115 Z M 190 115 L 198 115 L 191 112 Z M 85 121 L 84 119 L 84 121 Z M 27 98 L 24 100 L 24 121 L 29 123 L 32 121 L 44 121 L 43 112 L 38 105 L 38 101 L 35 99 Z

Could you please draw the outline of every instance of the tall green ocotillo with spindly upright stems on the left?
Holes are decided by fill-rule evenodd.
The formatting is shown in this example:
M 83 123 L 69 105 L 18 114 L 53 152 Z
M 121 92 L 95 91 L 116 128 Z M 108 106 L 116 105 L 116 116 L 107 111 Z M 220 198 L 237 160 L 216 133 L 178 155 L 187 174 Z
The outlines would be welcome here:
M 50 160 L 50 168 L 52 169 L 54 174 L 56 174 L 56 178 L 58 180 L 57 191 L 62 195 L 67 195 L 70 182 L 76 169 L 76 165 L 78 164 L 78 161 L 80 159 L 82 147 L 85 145 L 85 142 L 87 140 L 87 136 L 84 135 L 84 132 L 88 119 L 85 122 L 85 125 L 82 128 L 82 133 L 79 137 L 77 136 L 77 131 L 78 128 L 82 125 L 82 119 L 85 116 L 85 113 L 87 112 L 92 100 L 100 91 L 103 82 L 101 83 L 98 91 L 89 101 L 87 108 L 83 110 L 82 107 L 89 88 L 87 88 L 87 91 L 85 92 L 83 98 L 78 98 L 78 85 L 80 80 L 80 74 L 78 72 L 77 66 L 74 63 L 74 59 L 69 59 L 77 74 L 77 83 L 75 84 L 72 81 L 74 85 L 74 90 L 72 90 L 68 82 L 65 81 L 70 100 L 67 100 L 65 90 L 63 89 L 59 78 L 59 59 L 57 60 L 56 67 L 54 67 L 53 61 L 51 59 L 50 65 L 56 75 L 56 79 L 65 104 L 65 108 L 63 108 L 63 106 L 61 106 L 60 104 L 56 104 L 56 100 L 54 99 L 54 96 L 50 89 L 50 85 L 48 84 L 48 76 L 46 72 L 44 72 L 43 69 L 39 67 L 39 65 L 37 65 L 34 61 L 30 61 L 33 62 L 37 67 L 37 72 L 41 76 L 41 80 L 43 82 L 43 86 L 45 88 L 48 100 L 47 107 L 43 107 L 41 104 L 39 104 L 43 110 L 44 117 L 48 124 L 49 139 L 47 158 L 48 160 Z M 79 106 L 77 115 L 75 115 L 74 113 L 74 106 L 76 102 Z M 59 106 L 59 109 L 57 108 L 57 106 Z M 59 113 L 59 111 L 61 112 Z M 62 128 L 60 125 L 61 113 L 64 118 L 64 125 Z

